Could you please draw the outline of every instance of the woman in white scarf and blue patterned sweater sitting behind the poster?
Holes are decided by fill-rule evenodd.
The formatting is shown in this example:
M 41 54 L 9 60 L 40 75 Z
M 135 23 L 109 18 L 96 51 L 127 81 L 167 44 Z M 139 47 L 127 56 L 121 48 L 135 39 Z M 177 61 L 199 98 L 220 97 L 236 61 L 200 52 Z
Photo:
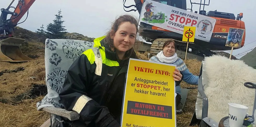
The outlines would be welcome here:
M 156 56 L 153 56 L 149 61 L 162 62 L 176 65 L 176 68 L 181 72 L 182 80 L 188 84 L 198 85 L 199 77 L 189 72 L 186 64 L 176 53 L 176 43 L 173 40 L 168 40 L 163 45 L 163 51 L 159 52 Z M 181 82 L 181 81 L 180 81 Z M 181 86 L 180 82 L 176 82 L 176 106 L 181 102 Z M 182 113 L 182 110 L 176 110 L 177 114 Z

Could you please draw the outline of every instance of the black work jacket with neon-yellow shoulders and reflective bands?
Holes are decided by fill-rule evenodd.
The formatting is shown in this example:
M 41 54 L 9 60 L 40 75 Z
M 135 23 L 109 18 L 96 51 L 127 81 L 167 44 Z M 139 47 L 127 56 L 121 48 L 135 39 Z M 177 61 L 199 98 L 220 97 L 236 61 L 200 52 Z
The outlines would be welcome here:
M 81 126 L 120 126 L 129 58 L 119 60 L 103 38 L 70 66 L 59 94 L 66 110 L 79 113 Z M 137 58 L 135 52 L 130 58 Z

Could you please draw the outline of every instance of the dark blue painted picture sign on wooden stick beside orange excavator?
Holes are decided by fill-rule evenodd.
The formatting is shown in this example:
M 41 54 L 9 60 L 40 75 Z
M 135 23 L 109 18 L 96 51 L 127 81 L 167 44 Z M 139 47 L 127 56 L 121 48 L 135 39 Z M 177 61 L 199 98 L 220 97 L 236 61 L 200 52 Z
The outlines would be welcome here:
M 245 29 L 229 28 L 228 38 L 225 45 L 232 47 L 229 59 L 231 59 L 233 49 L 241 47 L 244 32 Z

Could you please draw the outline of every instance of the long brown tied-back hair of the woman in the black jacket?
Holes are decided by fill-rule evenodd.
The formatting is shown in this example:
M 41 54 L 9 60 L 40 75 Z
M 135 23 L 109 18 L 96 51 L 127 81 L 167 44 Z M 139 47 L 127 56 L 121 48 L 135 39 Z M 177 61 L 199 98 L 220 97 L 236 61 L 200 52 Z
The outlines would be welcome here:
M 137 19 L 135 19 L 135 17 L 131 15 L 122 15 L 118 17 L 118 19 L 116 19 L 112 23 L 110 31 L 107 33 L 106 37 L 104 38 L 105 43 L 109 45 L 110 50 L 112 52 L 115 51 L 115 47 L 114 47 L 113 39 L 111 38 L 111 36 L 115 35 L 115 32 L 117 32 L 119 26 L 123 22 L 130 22 L 131 24 L 134 24 L 136 26 L 136 32 L 138 33 L 138 21 Z M 137 36 L 137 33 L 136 33 L 136 36 Z M 135 38 L 135 42 L 138 42 L 137 37 Z M 131 55 L 136 55 L 136 52 L 133 49 L 133 47 L 130 50 L 126 51 L 125 57 L 131 57 Z

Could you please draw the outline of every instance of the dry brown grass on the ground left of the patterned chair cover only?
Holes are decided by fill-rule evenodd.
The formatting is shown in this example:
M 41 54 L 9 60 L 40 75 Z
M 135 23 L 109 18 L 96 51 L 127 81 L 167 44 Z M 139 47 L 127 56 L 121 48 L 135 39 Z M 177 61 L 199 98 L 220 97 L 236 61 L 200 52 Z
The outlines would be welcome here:
M 45 84 L 44 44 L 28 44 L 28 47 L 24 46 L 22 49 L 23 53 L 38 55 L 38 58 L 24 63 L 0 62 L 0 72 L 5 72 L 0 76 L 1 127 L 40 126 L 50 116 L 49 113 L 38 112 L 36 109 L 36 103 L 44 96 L 30 94 L 33 84 Z M 11 72 L 12 70 L 20 71 Z

